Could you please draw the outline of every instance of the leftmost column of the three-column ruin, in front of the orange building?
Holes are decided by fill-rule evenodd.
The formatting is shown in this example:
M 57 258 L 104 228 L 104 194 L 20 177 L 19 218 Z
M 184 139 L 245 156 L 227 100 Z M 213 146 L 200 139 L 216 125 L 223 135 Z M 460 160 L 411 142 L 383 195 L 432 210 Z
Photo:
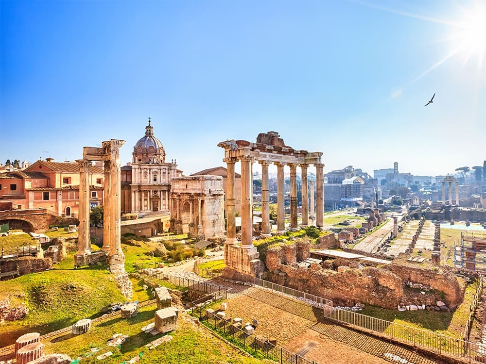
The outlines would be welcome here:
M 89 239 L 89 166 L 90 161 L 77 159 L 79 165 L 78 255 L 91 253 Z

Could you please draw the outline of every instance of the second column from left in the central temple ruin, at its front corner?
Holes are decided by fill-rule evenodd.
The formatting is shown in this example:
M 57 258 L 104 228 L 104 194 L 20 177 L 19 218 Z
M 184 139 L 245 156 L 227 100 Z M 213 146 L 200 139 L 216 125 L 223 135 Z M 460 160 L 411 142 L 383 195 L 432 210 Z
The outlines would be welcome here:
M 242 248 L 253 247 L 253 224 L 251 221 L 251 157 L 242 156 Z

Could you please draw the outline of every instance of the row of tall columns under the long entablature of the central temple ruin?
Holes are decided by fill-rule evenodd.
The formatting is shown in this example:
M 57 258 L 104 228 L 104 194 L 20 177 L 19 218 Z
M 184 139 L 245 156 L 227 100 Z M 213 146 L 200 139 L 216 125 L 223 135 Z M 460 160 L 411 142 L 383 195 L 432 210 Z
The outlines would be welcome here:
M 253 235 L 253 221 L 252 221 L 252 173 L 251 173 L 251 157 L 240 157 L 241 171 L 242 171 L 242 245 L 251 247 L 251 238 Z M 235 225 L 235 198 L 234 198 L 234 175 L 235 163 L 237 158 L 227 158 L 224 161 L 227 165 L 227 184 L 226 184 L 226 243 L 234 244 L 236 242 L 236 225 Z M 270 201 L 268 188 L 268 161 L 259 161 L 261 165 L 261 233 L 263 236 L 270 235 Z M 285 163 L 276 162 L 277 165 L 277 233 L 285 232 L 285 200 L 284 200 L 284 165 Z M 297 164 L 289 164 L 290 166 L 290 228 L 297 229 Z M 307 167 L 309 165 L 300 165 L 302 170 L 302 201 L 308 201 L 308 179 Z M 317 173 L 317 227 L 324 226 L 324 165 L 316 164 Z M 311 181 L 311 216 L 314 215 L 314 183 Z M 302 226 L 309 224 L 309 209 L 308 204 L 302 204 Z

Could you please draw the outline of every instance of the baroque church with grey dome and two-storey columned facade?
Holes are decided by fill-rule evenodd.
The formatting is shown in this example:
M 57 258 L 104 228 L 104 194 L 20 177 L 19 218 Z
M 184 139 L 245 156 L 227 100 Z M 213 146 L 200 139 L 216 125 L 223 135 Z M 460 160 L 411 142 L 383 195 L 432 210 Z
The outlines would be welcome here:
M 175 160 L 165 162 L 165 150 L 149 123 L 133 148 L 132 163 L 121 167 L 121 212 L 145 215 L 169 212 L 171 182 L 182 176 Z

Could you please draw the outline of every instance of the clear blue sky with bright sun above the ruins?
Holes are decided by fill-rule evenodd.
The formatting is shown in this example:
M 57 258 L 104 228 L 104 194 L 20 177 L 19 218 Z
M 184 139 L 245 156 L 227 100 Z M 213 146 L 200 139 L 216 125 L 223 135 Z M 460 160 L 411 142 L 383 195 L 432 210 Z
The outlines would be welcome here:
M 486 28 L 470 25 L 486 24 L 484 1 L 0 6 L 1 162 L 73 161 L 116 138 L 125 164 L 148 116 L 185 174 L 223 165 L 218 142 L 268 131 L 322 151 L 328 171 L 486 158 Z

